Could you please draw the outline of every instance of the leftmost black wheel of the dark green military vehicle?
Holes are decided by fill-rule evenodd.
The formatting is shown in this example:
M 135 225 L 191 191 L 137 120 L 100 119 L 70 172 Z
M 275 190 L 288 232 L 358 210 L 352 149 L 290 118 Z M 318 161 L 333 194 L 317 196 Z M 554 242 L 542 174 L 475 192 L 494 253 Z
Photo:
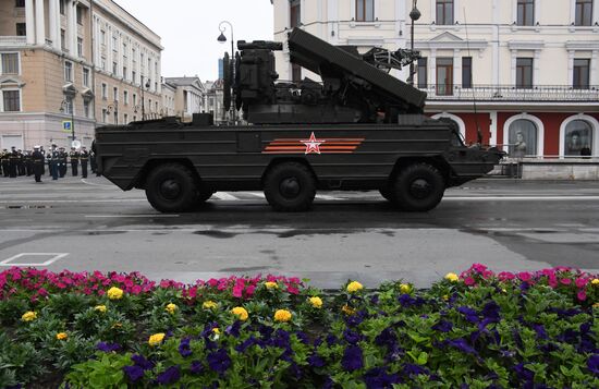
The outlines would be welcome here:
M 198 200 L 198 183 L 192 170 L 180 163 L 160 165 L 147 179 L 146 197 L 161 212 L 192 210 Z

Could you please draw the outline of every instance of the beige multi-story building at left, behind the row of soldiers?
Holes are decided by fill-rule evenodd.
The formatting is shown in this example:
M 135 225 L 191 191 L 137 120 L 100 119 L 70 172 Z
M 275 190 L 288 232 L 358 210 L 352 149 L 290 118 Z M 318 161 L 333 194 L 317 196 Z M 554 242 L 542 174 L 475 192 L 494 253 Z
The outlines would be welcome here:
M 111 0 L 0 2 L 1 146 L 88 146 L 96 124 L 159 112 L 161 50 Z

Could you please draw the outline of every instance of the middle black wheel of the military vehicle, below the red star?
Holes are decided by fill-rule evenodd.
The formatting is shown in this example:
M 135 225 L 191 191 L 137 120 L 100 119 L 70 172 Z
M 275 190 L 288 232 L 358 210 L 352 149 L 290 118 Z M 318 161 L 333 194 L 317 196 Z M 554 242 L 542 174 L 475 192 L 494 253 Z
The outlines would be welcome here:
M 265 196 L 276 210 L 297 212 L 307 210 L 316 196 L 316 182 L 302 163 L 274 166 L 265 179 Z

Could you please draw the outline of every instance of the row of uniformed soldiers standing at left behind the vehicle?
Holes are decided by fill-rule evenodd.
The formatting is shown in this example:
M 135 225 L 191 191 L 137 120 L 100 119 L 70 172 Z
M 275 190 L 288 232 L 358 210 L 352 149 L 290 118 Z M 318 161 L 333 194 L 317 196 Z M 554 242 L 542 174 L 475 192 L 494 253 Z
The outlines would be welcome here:
M 19 175 L 35 175 L 36 182 L 41 182 L 41 175 L 46 174 L 46 162 L 52 180 L 58 180 L 66 175 L 68 162 L 71 163 L 73 177 L 78 175 L 78 166 L 81 165 L 82 177 L 87 178 L 87 165 L 91 167 L 91 172 L 96 173 L 96 156 L 82 147 L 77 151 L 74 147 L 71 153 L 66 153 L 64 147 L 57 148 L 52 144 L 49 151 L 44 150 L 44 146 L 35 146 L 34 151 L 12 147 L 11 150 L 3 149 L 0 154 L 0 177 L 16 178 Z

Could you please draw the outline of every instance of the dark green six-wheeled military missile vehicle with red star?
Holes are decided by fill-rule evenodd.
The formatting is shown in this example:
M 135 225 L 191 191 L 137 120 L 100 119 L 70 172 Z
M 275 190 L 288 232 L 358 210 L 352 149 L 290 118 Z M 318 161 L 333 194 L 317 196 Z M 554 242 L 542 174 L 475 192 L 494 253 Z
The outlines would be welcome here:
M 145 190 L 162 212 L 197 209 L 217 191 L 264 191 L 276 210 L 303 211 L 317 191 L 349 190 L 379 190 L 399 209 L 427 211 L 447 187 L 486 174 L 503 156 L 466 147 L 454 123 L 424 114 L 425 93 L 389 74 L 417 52 L 360 54 L 295 28 L 291 62 L 321 82 L 276 83 L 281 42 L 237 48 L 234 66 L 224 59 L 224 106 L 234 104 L 249 125 L 213 125 L 199 113 L 191 123 L 101 126 L 99 172 L 124 191 Z

